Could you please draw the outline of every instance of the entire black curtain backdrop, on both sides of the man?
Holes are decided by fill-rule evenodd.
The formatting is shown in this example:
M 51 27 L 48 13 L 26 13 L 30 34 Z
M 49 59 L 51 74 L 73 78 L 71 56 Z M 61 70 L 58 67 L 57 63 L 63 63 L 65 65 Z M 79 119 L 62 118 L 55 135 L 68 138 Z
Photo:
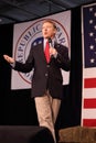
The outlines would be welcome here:
M 64 86 L 56 128 L 63 129 L 81 124 L 82 106 L 82 34 L 81 8 L 72 9 L 71 23 L 71 77 Z M 38 118 L 30 89 L 11 90 L 11 68 L 2 55 L 12 56 L 13 24 L 0 25 L 0 124 L 36 125 Z

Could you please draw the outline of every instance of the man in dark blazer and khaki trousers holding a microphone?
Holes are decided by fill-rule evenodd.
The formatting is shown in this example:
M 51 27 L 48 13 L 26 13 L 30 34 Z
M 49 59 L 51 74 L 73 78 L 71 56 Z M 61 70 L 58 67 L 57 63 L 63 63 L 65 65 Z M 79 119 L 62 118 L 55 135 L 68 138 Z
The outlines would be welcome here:
M 24 64 L 14 61 L 8 55 L 4 59 L 12 64 L 18 72 L 29 73 L 34 68 L 32 78 L 32 97 L 35 101 L 38 119 L 41 127 L 46 127 L 56 143 L 54 124 L 63 98 L 63 77 L 61 68 L 70 70 L 71 61 L 67 47 L 55 42 L 56 25 L 51 20 L 45 20 L 42 25 L 42 42 L 31 47 Z M 46 42 L 50 42 L 49 59 L 45 59 Z

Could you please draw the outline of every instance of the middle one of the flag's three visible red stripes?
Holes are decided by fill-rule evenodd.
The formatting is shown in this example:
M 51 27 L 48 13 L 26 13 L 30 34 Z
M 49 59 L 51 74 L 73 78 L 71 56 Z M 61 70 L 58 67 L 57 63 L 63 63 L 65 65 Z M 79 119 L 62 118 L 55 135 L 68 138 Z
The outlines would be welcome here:
M 84 108 L 96 108 L 96 99 L 84 99 Z

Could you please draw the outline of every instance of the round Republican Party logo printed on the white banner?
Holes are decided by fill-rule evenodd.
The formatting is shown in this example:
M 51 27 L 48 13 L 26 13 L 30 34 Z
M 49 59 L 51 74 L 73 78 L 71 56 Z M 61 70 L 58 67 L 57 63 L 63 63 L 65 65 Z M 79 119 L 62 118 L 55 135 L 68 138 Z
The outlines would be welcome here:
M 25 63 L 32 44 L 38 44 L 42 38 L 42 23 L 45 19 L 39 20 L 28 26 L 17 41 L 14 47 L 14 58 L 20 63 Z M 70 47 L 68 34 L 62 23 L 50 19 L 56 23 L 57 32 L 55 35 L 56 42 Z M 19 73 L 19 76 L 28 84 L 31 84 L 34 69 L 30 73 Z

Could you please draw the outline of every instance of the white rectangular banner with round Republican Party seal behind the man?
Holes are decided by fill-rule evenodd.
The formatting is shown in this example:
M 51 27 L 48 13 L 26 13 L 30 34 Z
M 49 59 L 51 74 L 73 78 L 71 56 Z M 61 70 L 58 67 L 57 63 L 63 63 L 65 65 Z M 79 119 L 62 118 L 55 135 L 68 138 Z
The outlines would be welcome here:
M 30 22 L 14 24 L 13 28 L 13 51 L 14 59 L 24 63 L 33 42 L 38 42 L 42 37 L 42 23 L 45 19 L 51 19 L 56 23 L 57 33 L 56 41 L 68 47 L 71 57 L 71 11 L 64 11 L 57 14 L 49 15 Z M 39 57 L 41 58 L 41 57 Z M 70 72 L 62 70 L 64 77 L 63 85 L 70 82 Z M 26 74 L 12 69 L 11 89 L 29 89 L 31 88 L 31 78 L 33 70 Z

